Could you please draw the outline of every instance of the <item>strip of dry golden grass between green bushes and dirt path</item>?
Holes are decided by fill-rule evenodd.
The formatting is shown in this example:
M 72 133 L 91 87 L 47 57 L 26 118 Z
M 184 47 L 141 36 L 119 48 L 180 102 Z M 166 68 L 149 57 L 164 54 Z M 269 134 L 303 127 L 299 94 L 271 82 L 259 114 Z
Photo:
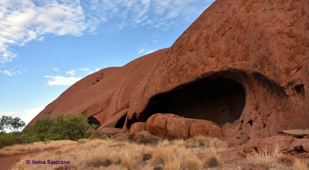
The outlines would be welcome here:
M 16 155 L 22 153 L 28 153 L 37 150 L 57 149 L 64 146 L 76 145 L 78 142 L 71 140 L 56 140 L 50 142 L 34 142 L 32 144 L 15 144 L 12 146 L 6 146 L 0 149 L 0 156 Z

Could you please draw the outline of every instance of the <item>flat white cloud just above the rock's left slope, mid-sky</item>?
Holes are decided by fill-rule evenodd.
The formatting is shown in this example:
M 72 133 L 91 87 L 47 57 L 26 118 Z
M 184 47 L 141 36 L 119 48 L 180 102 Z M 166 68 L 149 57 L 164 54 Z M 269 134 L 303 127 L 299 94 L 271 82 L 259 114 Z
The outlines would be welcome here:
M 62 76 L 44 76 L 47 78 L 47 84 L 46 85 L 73 85 L 80 79 L 81 77 L 62 77 Z

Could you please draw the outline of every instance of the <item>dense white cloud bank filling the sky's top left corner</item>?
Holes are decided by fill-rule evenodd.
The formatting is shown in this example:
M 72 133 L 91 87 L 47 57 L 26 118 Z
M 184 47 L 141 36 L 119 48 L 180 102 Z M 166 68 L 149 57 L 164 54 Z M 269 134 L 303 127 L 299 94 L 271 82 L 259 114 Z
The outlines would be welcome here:
M 1 0 L 0 63 L 17 56 L 11 52 L 11 45 L 43 41 L 44 34 L 79 36 L 85 29 L 85 15 L 78 0 Z

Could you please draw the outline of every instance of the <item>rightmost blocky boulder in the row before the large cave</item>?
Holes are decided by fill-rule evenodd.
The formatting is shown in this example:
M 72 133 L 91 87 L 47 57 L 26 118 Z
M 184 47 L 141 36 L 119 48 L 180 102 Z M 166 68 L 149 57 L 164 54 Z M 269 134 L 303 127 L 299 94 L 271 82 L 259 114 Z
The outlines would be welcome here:
M 199 135 L 222 137 L 222 128 L 220 128 L 218 125 L 215 125 L 213 122 L 209 124 L 192 123 L 190 127 L 190 137 Z

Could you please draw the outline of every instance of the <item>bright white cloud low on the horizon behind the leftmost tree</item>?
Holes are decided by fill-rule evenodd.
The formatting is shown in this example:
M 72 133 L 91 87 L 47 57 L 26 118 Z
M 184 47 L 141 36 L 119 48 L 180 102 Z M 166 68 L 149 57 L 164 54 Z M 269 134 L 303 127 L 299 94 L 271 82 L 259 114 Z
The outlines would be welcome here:
M 37 115 L 39 114 L 44 107 L 37 107 L 34 109 L 26 109 L 23 112 L 9 112 L 9 113 L 0 113 L 0 116 L 13 116 L 13 117 L 20 117 L 22 121 L 28 125 L 28 123 Z

